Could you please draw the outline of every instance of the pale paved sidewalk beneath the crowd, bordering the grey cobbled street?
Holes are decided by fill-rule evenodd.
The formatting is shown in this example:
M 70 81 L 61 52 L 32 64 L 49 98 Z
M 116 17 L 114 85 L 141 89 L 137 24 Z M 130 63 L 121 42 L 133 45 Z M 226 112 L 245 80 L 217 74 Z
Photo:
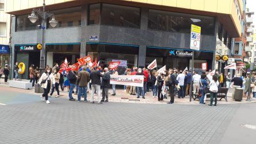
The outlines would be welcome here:
M 8 84 L 0 84 L 0 87 L 5 86 L 5 87 L 9 87 Z M 41 95 L 41 94 L 36 94 L 34 93 L 34 89 L 18 89 L 18 88 L 14 88 L 17 89 L 17 91 L 21 91 L 21 92 L 25 92 L 28 94 L 33 94 L 33 95 Z M 56 96 L 56 91 L 53 93 L 53 96 Z M 123 89 L 117 89 L 116 90 L 116 95 L 115 96 L 111 96 L 112 94 L 112 89 L 110 88 L 108 90 L 108 97 L 109 97 L 109 101 L 110 102 L 123 102 L 123 103 L 152 103 L 152 104 L 166 104 L 167 102 L 169 102 L 170 97 L 167 96 L 168 99 L 164 99 L 162 102 L 158 102 L 157 98 L 152 98 L 153 94 L 152 92 L 147 92 L 145 95 L 146 99 L 142 99 L 139 98 L 137 99 L 137 95 L 130 95 L 130 94 L 126 94 L 126 91 L 124 91 Z M 241 102 L 236 102 L 234 100 L 231 99 L 231 90 L 228 91 L 228 95 L 227 95 L 227 99 L 228 102 L 226 102 L 225 99 L 222 99 L 221 101 L 219 101 L 220 98 L 218 98 L 218 104 L 239 104 L 239 103 L 254 103 L 256 102 L 256 100 L 251 100 L 250 102 L 246 101 L 246 98 L 243 98 L 243 100 Z M 64 98 L 64 99 L 68 99 L 68 91 L 67 88 L 64 89 L 64 91 L 60 91 L 60 98 Z M 73 98 L 77 99 L 77 95 L 73 94 Z M 97 99 L 97 95 L 95 94 L 94 99 Z M 83 100 L 83 98 L 82 98 Z M 91 91 L 87 94 L 87 100 L 91 100 Z M 199 104 L 199 100 L 193 100 L 192 102 L 189 102 L 189 96 L 186 96 L 184 99 L 178 99 L 177 96 L 175 97 L 175 104 Z M 207 103 L 210 103 L 210 98 L 207 98 Z

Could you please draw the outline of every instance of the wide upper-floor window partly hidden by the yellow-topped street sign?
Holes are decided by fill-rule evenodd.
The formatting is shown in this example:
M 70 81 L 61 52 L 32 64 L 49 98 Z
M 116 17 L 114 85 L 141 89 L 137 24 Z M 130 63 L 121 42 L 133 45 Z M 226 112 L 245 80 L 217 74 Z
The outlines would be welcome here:
M 189 33 L 191 31 L 191 24 L 201 26 L 201 34 L 214 35 L 213 17 L 149 10 L 149 29 Z

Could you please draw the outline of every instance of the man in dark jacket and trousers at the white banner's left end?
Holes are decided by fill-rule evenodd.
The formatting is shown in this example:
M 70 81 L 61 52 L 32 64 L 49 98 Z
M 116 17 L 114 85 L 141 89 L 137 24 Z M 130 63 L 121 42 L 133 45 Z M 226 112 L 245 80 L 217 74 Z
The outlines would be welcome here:
M 104 68 L 104 75 L 102 76 L 102 100 L 100 102 L 104 102 L 104 101 L 108 102 L 109 85 L 110 85 L 110 73 L 108 72 L 108 68 Z

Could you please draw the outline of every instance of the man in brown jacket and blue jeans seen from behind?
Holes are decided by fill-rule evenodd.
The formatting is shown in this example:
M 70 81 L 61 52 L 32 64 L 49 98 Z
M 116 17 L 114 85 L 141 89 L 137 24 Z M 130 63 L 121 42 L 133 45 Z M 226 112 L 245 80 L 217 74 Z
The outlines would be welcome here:
M 78 95 L 77 101 L 80 102 L 81 96 L 84 96 L 84 102 L 87 102 L 87 84 L 90 81 L 90 73 L 86 71 L 86 66 L 82 67 L 82 71 L 78 73 L 77 85 Z

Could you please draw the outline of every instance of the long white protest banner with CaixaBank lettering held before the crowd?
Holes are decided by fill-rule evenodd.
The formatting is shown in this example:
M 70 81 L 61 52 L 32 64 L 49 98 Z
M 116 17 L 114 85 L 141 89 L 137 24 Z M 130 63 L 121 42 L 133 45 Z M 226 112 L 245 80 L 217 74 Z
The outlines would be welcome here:
M 141 75 L 110 75 L 110 84 L 143 87 L 143 80 Z

